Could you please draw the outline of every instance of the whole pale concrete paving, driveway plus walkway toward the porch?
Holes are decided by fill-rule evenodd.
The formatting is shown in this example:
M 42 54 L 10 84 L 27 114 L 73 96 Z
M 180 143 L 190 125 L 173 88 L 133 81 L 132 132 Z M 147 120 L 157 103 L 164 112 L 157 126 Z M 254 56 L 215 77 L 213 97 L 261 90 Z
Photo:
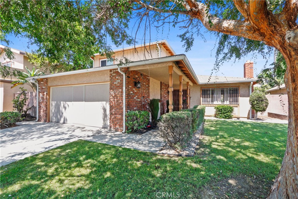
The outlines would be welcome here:
M 142 151 L 158 152 L 165 143 L 158 132 L 131 135 L 109 129 L 62 123 L 21 122 L 2 129 L 0 166 L 76 140 L 88 140 Z

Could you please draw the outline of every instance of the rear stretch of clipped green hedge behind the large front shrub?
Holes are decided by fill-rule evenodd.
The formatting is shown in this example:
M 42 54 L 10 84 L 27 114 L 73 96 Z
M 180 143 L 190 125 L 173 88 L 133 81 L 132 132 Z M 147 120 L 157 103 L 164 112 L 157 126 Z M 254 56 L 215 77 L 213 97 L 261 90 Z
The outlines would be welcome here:
M 192 121 L 192 132 L 196 132 L 198 127 L 201 126 L 204 115 L 205 115 L 205 106 L 195 106 L 193 109 L 184 109 L 182 111 L 187 111 L 191 113 L 191 121 Z

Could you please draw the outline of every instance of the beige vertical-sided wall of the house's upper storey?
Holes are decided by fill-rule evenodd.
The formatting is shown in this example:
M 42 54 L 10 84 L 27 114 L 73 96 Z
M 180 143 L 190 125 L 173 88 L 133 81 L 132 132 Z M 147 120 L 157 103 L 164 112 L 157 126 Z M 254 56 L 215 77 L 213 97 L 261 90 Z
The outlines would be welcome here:
M 170 56 L 170 54 L 164 49 L 164 47 L 160 46 L 160 49 L 161 49 L 161 57 Z M 147 52 L 147 50 L 149 53 Z M 119 64 L 119 60 L 123 59 L 123 56 L 125 56 L 131 61 L 140 61 L 140 60 L 159 58 L 159 52 L 156 45 L 150 46 L 150 49 L 149 47 L 147 47 L 147 50 L 145 50 L 144 47 L 142 47 L 142 48 L 136 49 L 136 51 L 132 49 L 132 50 L 116 52 L 112 56 L 114 59 L 116 59 L 114 61 L 114 64 Z M 100 59 L 105 59 L 105 58 L 106 58 L 105 56 L 100 56 L 100 55 L 95 56 L 94 67 L 100 67 Z

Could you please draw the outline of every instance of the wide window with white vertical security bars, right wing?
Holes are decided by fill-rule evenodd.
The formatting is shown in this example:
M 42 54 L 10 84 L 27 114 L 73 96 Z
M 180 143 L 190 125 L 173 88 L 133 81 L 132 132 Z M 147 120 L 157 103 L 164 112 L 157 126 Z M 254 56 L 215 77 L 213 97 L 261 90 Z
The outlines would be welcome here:
M 202 104 L 239 104 L 239 88 L 203 88 Z

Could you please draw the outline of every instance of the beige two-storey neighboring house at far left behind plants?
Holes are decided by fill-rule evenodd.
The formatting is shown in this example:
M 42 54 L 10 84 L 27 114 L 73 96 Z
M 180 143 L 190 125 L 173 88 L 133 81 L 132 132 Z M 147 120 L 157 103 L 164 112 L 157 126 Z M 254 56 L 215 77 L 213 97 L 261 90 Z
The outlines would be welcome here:
M 26 56 L 26 53 L 24 51 L 10 48 L 14 55 L 14 59 L 10 60 L 6 57 L 3 51 L 4 48 L 5 46 L 0 45 L 1 65 L 25 72 L 27 72 L 25 68 L 25 66 L 27 66 L 29 70 L 32 70 L 33 65 L 28 61 L 28 57 Z M 21 92 L 20 87 L 24 87 L 25 89 L 27 89 L 27 92 L 33 92 L 32 88 L 29 85 L 22 85 L 11 88 L 11 82 L 15 80 L 17 80 L 17 78 L 13 76 L 6 78 L 0 76 L 0 112 L 13 111 L 13 103 L 11 101 L 13 100 L 15 93 Z

